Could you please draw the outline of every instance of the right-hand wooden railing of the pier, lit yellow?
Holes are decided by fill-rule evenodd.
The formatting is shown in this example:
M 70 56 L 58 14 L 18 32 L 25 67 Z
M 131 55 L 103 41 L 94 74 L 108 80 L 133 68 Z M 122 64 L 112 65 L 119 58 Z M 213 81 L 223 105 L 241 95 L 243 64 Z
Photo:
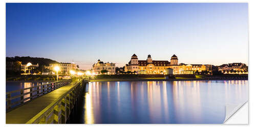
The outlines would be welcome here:
M 26 123 L 66 123 L 77 100 L 83 94 L 86 81 L 88 81 L 88 78 L 75 83 L 73 88 L 57 98 Z

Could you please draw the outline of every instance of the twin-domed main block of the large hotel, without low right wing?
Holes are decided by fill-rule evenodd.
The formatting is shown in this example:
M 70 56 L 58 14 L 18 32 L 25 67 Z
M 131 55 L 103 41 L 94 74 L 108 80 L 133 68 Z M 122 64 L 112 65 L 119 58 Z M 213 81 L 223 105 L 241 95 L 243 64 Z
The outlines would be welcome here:
M 147 56 L 146 60 L 138 60 L 138 56 L 133 54 L 129 61 L 127 71 L 137 72 L 138 74 L 165 74 L 168 68 L 174 70 L 174 74 L 179 74 L 178 57 L 173 55 L 168 60 L 153 60 L 151 55 Z

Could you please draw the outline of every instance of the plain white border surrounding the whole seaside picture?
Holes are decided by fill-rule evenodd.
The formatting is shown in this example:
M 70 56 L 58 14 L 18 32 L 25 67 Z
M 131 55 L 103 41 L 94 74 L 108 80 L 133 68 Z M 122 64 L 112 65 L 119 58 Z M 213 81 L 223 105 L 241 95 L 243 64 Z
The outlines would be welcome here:
M 255 127 L 256 122 L 254 121 L 255 119 L 253 118 L 253 115 L 255 115 L 255 97 L 256 97 L 256 93 L 254 93 L 255 91 L 255 85 L 253 83 L 255 83 L 255 81 L 252 81 L 253 77 L 255 77 L 255 67 L 256 67 L 256 62 L 255 62 L 255 57 L 254 55 L 256 55 L 256 50 L 254 50 L 255 44 L 256 44 L 256 1 L 252 0 L 244 0 L 244 1 L 238 1 L 238 0 L 216 0 L 216 1 L 205 1 L 205 0 L 198 0 L 198 1 L 192 1 L 192 0 L 187 0 L 187 1 L 154 1 L 154 0 L 148 0 L 148 1 L 143 1 L 143 0 L 130 0 L 130 1 L 118 1 L 118 0 L 112 0 L 112 1 L 106 1 L 106 0 L 95 0 L 95 1 L 82 1 L 82 0 L 75 0 L 75 1 L 70 1 L 70 0 L 45 0 L 45 1 L 36 1 L 36 0 L 27 0 L 27 1 L 18 1 L 18 0 L 9 0 L 9 1 L 1 1 L 1 81 L 2 81 L 2 96 L 1 96 L 1 101 L 2 101 L 2 105 L 1 105 L 1 124 L 3 126 L 8 126 L 8 127 L 70 127 L 72 126 L 72 124 L 68 125 L 68 124 L 64 124 L 64 125 L 33 125 L 33 124 L 5 124 L 5 55 L 6 55 L 6 3 L 248 3 L 248 9 L 249 9 L 249 44 L 248 44 L 248 65 L 249 65 L 249 125 L 232 125 L 232 124 L 94 124 L 94 125 L 88 125 L 88 124 L 76 124 L 75 126 L 79 126 L 79 127 L 84 127 L 84 126 L 93 126 L 93 127 L 99 127 L 99 126 L 111 126 L 111 127 L 134 127 L 134 126 L 138 126 L 138 127 L 142 127 L 142 126 L 147 126 L 147 127 L 170 127 L 170 126 L 174 126 L 174 127 L 216 127 L 216 126 L 229 126 L 232 125 L 232 127 L 241 127 L 241 126 L 249 126 L 249 127 Z M 253 99 L 254 98 L 254 99 Z M 250 108 L 254 108 L 254 109 L 250 109 Z

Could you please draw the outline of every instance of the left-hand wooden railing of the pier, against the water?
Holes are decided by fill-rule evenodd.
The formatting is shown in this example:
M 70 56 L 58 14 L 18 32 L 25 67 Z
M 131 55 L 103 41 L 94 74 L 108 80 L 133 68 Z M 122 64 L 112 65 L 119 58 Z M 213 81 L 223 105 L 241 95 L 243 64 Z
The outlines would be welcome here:
M 71 79 L 60 80 L 56 82 L 41 84 L 39 86 L 7 92 L 6 93 L 6 110 L 10 110 L 11 108 L 18 105 L 22 105 L 25 102 L 32 100 L 33 98 L 39 97 L 55 89 L 58 89 L 62 86 L 65 86 L 71 81 L 72 81 Z

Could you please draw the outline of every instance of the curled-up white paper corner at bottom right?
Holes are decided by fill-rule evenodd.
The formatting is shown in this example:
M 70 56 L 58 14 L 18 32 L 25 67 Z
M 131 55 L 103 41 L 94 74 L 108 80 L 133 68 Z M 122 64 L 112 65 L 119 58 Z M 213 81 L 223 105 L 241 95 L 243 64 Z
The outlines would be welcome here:
M 248 101 L 244 102 L 244 103 L 240 103 L 240 104 L 226 104 L 226 117 L 223 123 L 225 123 L 233 114 L 235 114 L 245 103 L 247 103 Z

